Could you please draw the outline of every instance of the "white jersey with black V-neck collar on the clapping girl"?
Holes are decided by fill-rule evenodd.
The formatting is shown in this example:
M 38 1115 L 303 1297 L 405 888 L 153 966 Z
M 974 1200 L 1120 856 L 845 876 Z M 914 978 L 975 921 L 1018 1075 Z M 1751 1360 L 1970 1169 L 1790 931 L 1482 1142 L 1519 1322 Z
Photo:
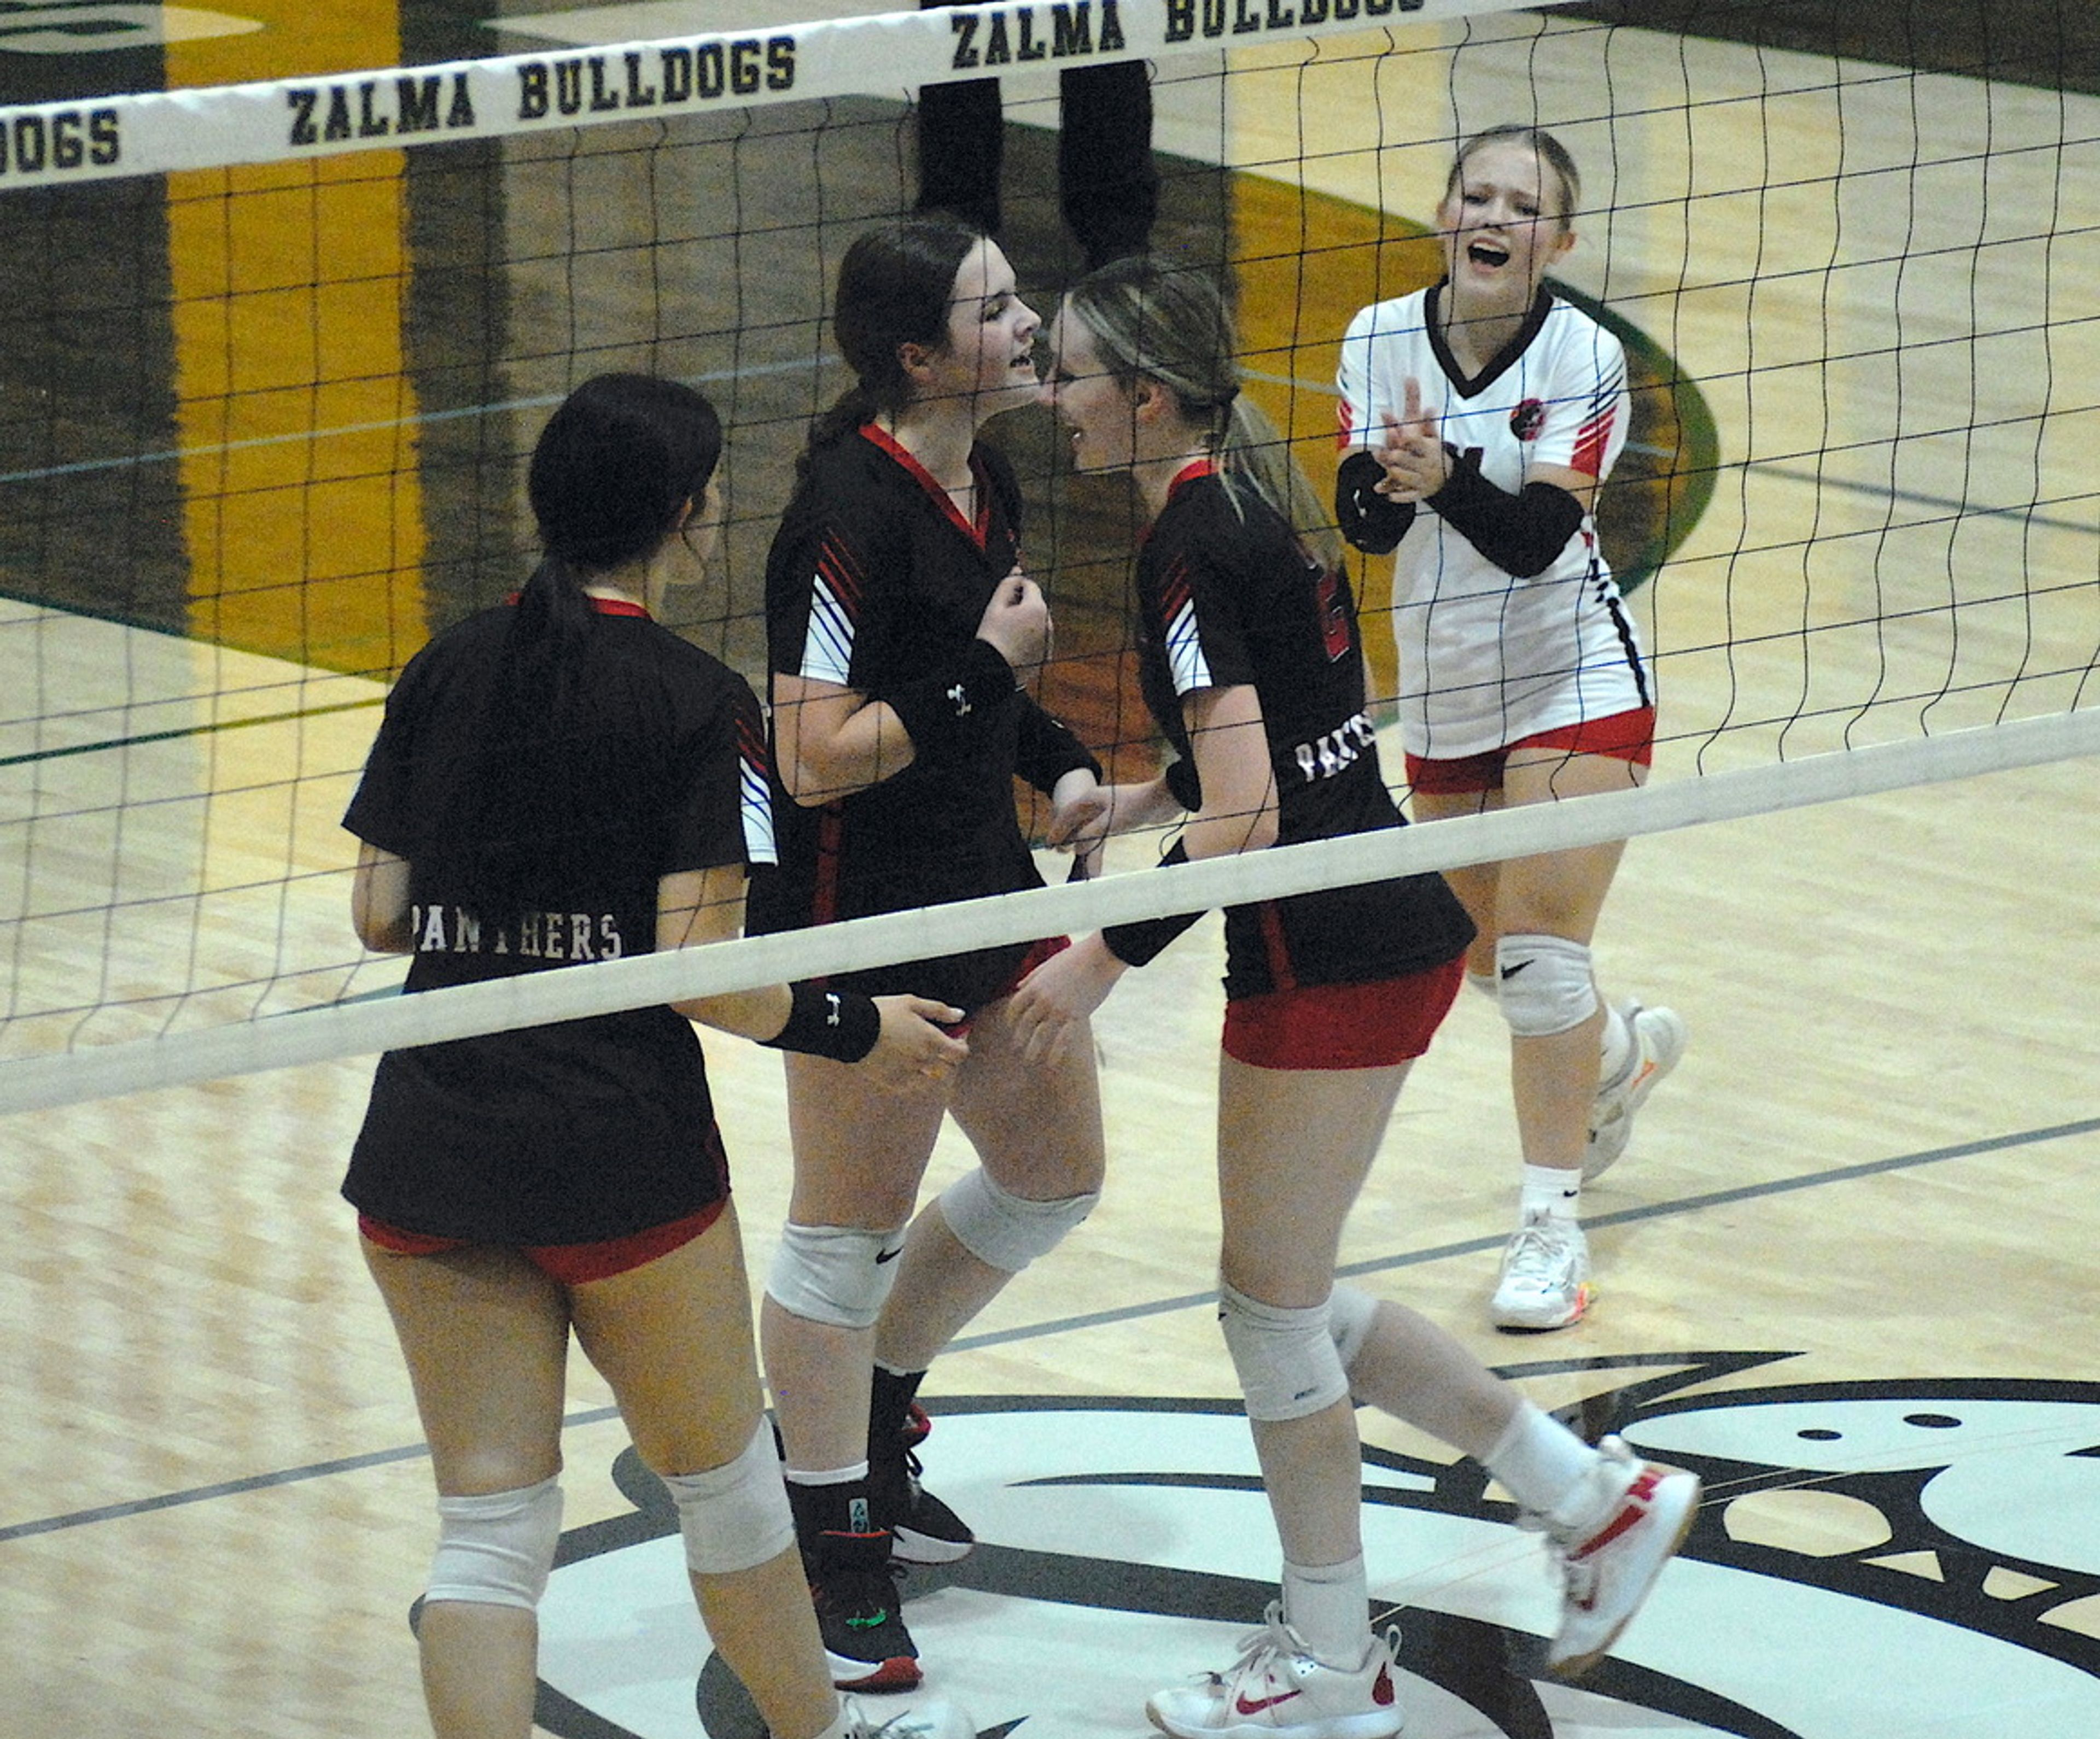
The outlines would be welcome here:
M 1443 439 L 1478 454 L 1480 475 L 1516 494 L 1539 466 L 1604 479 L 1625 447 L 1625 351 L 1550 290 L 1516 340 L 1468 380 L 1443 340 L 1447 286 L 1363 309 L 1342 338 L 1342 435 L 1376 447 L 1407 380 L 1443 420 Z M 1634 622 L 1583 519 L 1537 578 L 1495 567 L 1434 508 L 1420 508 L 1392 569 L 1401 647 L 1401 739 L 1409 754 L 1457 760 L 1653 704 Z

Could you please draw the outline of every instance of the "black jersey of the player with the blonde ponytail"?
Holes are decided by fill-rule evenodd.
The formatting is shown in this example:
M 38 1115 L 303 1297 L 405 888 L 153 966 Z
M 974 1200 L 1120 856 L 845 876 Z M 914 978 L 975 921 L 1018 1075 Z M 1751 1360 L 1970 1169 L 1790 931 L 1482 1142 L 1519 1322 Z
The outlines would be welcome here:
M 1348 578 L 1306 554 L 1252 491 L 1191 464 L 1138 550 L 1140 680 L 1197 796 L 1182 697 L 1252 685 L 1277 775 L 1277 844 L 1405 825 L 1365 714 Z M 1191 804 L 1195 806 L 1195 804 Z M 1373 983 L 1441 966 L 1472 941 L 1443 876 L 1401 876 L 1226 912 L 1228 998 Z

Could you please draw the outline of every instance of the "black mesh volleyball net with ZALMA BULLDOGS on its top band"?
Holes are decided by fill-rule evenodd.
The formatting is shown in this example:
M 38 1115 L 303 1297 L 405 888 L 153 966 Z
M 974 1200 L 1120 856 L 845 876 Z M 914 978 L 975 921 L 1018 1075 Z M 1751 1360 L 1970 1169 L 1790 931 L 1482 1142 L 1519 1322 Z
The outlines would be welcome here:
M 1321 485 L 1340 334 L 1436 275 L 1453 143 L 1554 130 L 1583 168 L 1564 288 L 1634 372 L 1598 525 L 1663 735 L 1640 792 L 943 907 L 943 947 L 2100 750 L 2071 4 L 1930 65 L 1724 0 L 1044 0 L 647 42 L 548 13 L 481 61 L 0 109 L 0 1109 L 926 951 L 899 914 L 395 998 L 338 821 L 388 680 L 529 571 L 523 460 L 609 368 L 729 424 L 724 548 L 666 620 L 762 689 L 766 544 L 844 384 L 836 263 L 911 208 L 918 92 L 958 80 L 1000 78 L 1002 242 L 1046 307 L 1077 269 L 1060 74 L 1149 63 L 1155 246 L 1228 279 L 1250 391 Z M 993 439 L 1058 620 L 1042 699 L 1142 775 L 1128 491 L 1071 477 L 1042 412 Z M 1388 567 L 1352 578 L 1390 693 Z

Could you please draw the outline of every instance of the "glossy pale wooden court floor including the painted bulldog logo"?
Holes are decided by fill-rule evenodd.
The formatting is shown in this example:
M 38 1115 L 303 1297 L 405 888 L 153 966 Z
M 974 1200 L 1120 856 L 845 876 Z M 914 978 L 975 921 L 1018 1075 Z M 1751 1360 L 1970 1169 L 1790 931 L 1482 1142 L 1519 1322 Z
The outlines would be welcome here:
M 634 34 L 626 15 L 498 36 L 466 8 L 407 8 L 395 53 L 365 63 L 617 40 Z M 250 57 L 214 78 L 267 76 L 323 53 L 311 36 L 284 6 L 267 29 L 195 53 Z M 2081 689 L 2100 641 L 2094 99 L 1653 29 L 1602 38 L 1562 21 L 1541 36 L 1529 15 L 1464 44 L 1451 29 L 1409 42 L 1420 53 L 1378 67 L 1336 53 L 1310 84 L 1243 65 L 1224 134 L 1214 84 L 1163 80 L 1161 151 L 1239 170 L 1182 174 L 1168 239 L 1197 248 L 1233 225 L 1239 256 L 1296 254 L 1300 231 L 1268 246 L 1258 223 L 1279 210 L 1277 166 L 1298 162 L 1312 197 L 1294 168 L 1281 197 L 1294 223 L 1342 244 L 1382 233 L 1367 210 L 1394 235 L 1420 225 L 1436 147 L 1363 151 L 1378 113 L 1422 116 L 1420 139 L 1533 105 L 1564 128 L 1600 212 L 1571 284 L 1690 382 L 1667 395 L 1678 449 L 1712 443 L 1709 487 L 1672 498 L 1695 523 L 1670 525 L 1670 561 L 1636 592 L 1663 683 L 1659 781 L 2094 701 L 2090 676 Z M 19 59 L 0 36 L 0 71 Z M 46 59 L 40 80 L 94 78 L 90 55 Z M 1606 74 L 1613 122 L 1592 120 Z M 1018 122 L 1042 118 L 1025 88 L 1010 99 Z M 895 116 L 867 105 L 844 122 L 886 141 L 865 166 L 836 164 L 876 200 L 899 174 Z M 1911 168 L 1949 139 L 1989 139 L 1989 176 Z M 1040 132 L 1016 126 L 1012 149 L 1018 179 L 1044 174 Z M 1838 164 L 1858 172 L 1846 200 L 1831 193 Z M 517 193 L 540 174 L 521 153 L 498 181 Z M 1025 277 L 1048 286 L 1063 258 L 1037 206 L 1016 206 L 1010 239 Z M 546 216 L 519 197 L 506 223 Z M 1350 296 L 1386 281 L 1373 248 L 1342 244 L 1306 275 L 1317 284 L 1289 273 L 1277 288 L 1273 267 L 1241 279 L 1260 391 L 1304 431 L 1327 426 Z M 445 237 L 416 231 L 418 246 Z M 1405 237 L 1388 258 L 1405 258 Z M 504 319 L 550 317 L 559 290 L 544 265 L 514 271 Z M 781 294 L 811 309 L 821 273 Z M 590 286 L 575 315 L 586 326 L 638 317 L 598 296 Z M 454 395 L 420 399 L 428 584 L 399 613 L 351 611 L 330 657 L 271 645 L 258 599 L 212 638 L 193 569 L 216 546 L 183 519 L 195 473 L 181 466 L 86 473 L 78 487 L 109 491 L 107 512 L 67 521 L 82 550 L 65 569 L 71 603 L 50 596 L 48 563 L 34 588 L 21 582 L 19 521 L 8 533 L 0 802 L 34 844 L 8 886 L 38 912 L 78 914 L 10 926 L 10 1010 L 139 1000 L 86 1027 L 113 1038 L 386 983 L 351 964 L 334 827 L 376 672 L 504 582 L 519 548 L 508 508 L 470 521 L 454 502 L 483 498 L 447 489 L 479 477 L 483 452 L 508 464 L 567 368 L 552 347 L 512 357 L 491 395 L 483 363 L 445 351 L 462 319 L 418 302 L 399 326 L 418 384 L 449 380 Z M 2006 336 L 1930 342 L 1978 323 Z M 1875 340 L 1892 326 L 1900 361 Z M 792 391 L 808 391 L 764 399 L 754 382 L 775 380 L 777 359 L 743 361 L 722 389 L 752 395 L 739 403 L 758 424 L 737 460 L 731 586 L 762 548 Z M 174 338 L 105 363 L 145 378 L 136 401 L 168 393 L 155 370 L 193 365 Z M 439 416 L 477 393 L 502 399 L 496 437 L 458 435 L 487 416 Z M 162 433 L 210 445 L 174 414 Z M 1014 418 L 1004 437 L 1052 468 L 1040 422 Z M 1111 668 L 1117 502 L 1054 479 L 1037 494 L 1060 620 Z M 124 500 L 151 512 L 126 519 Z M 1625 548 L 1640 546 L 1634 527 Z M 1367 575 L 1373 601 L 1378 586 Z M 748 653 L 735 596 L 685 607 L 691 632 Z M 1875 615 L 1884 628 L 1861 626 Z M 1069 710 L 1115 735 L 1113 670 L 1063 680 Z M 2068 760 L 1632 846 L 1598 945 L 1606 989 L 1672 1004 L 1693 1046 L 1588 1195 L 1600 1304 L 1579 1329 L 1506 1338 L 1485 1323 L 1516 1147 L 1506 1040 L 1483 1006 L 1457 1008 L 1403 1096 L 1350 1227 L 1350 1273 L 1434 1313 L 1541 1403 L 1699 1466 L 1709 1502 L 1619 1657 L 1583 1691 L 1556 1689 L 1531 1674 L 1550 1621 L 1535 1537 L 1464 1464 L 1365 1420 L 1373 1594 L 1403 1609 L 1411 1735 L 2100 1733 L 2090 792 L 2092 764 Z M 15 825 L 118 800 L 122 821 Z M 99 916 L 113 893 L 185 876 L 223 893 L 168 901 L 172 924 Z M 212 983 L 275 989 L 176 1000 L 193 937 Z M 69 977 L 99 983 L 69 991 Z M 907 1617 L 928 1693 L 964 1701 L 985 1733 L 1136 1739 L 1142 1697 L 1224 1665 L 1266 1598 L 1275 1542 L 1208 1306 L 1216 977 L 1210 924 L 1111 1000 L 1107 1197 L 930 1382 L 928 1483 L 987 1546 L 947 1584 L 909 1581 Z M 13 1021 L 8 1054 L 71 1019 Z M 762 1271 L 785 1203 L 777 1061 L 718 1042 L 710 1067 Z M 0 1735 L 422 1731 L 405 1613 L 428 1556 L 428 1466 L 334 1193 L 368 1075 L 346 1061 L 6 1122 Z M 930 1185 L 962 1164 L 943 1145 Z M 668 1523 L 582 1363 L 571 1407 L 546 1731 L 748 1739 L 735 1697 L 701 1672 Z

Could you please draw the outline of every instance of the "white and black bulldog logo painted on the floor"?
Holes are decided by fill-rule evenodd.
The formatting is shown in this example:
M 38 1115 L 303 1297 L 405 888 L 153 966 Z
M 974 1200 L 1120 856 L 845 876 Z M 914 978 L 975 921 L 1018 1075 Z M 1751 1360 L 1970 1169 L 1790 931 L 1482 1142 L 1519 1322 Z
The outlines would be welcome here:
M 1583 1428 L 1699 1468 L 1709 1500 L 1581 1689 L 1533 1678 L 1554 1590 L 1480 1472 L 1367 1453 L 1371 1594 L 1405 1609 L 1409 1739 L 2100 1733 L 2100 1386 L 1684 1392 L 1785 1357 L 1604 1365 L 1625 1380 Z M 1147 1693 L 1233 1659 L 1277 1569 L 1237 1407 L 993 1397 L 941 1401 L 937 1424 L 930 1479 L 985 1544 L 905 1584 L 924 1695 L 985 1739 L 1138 1739 Z M 636 1512 L 563 1537 L 540 1724 L 760 1739 L 708 1653 L 668 1500 L 632 1455 L 617 1474 Z

